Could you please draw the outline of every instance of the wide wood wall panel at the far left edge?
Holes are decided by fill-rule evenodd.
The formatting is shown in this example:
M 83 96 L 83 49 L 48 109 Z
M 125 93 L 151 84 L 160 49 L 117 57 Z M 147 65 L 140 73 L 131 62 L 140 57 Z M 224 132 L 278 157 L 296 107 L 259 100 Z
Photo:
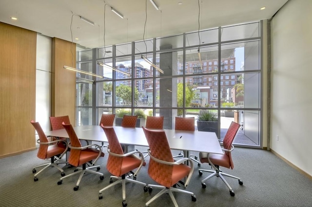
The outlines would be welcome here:
M 0 157 L 35 149 L 37 33 L 0 22 Z

